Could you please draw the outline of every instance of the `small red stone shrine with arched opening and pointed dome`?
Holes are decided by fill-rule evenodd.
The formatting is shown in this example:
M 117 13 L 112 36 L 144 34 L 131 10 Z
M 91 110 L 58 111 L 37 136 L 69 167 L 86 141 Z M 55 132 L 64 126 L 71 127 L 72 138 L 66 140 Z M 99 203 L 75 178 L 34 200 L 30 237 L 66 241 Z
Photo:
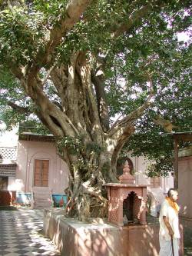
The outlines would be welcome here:
M 125 161 L 120 183 L 108 183 L 108 221 L 124 226 L 129 223 L 147 224 L 147 185 L 136 185 Z

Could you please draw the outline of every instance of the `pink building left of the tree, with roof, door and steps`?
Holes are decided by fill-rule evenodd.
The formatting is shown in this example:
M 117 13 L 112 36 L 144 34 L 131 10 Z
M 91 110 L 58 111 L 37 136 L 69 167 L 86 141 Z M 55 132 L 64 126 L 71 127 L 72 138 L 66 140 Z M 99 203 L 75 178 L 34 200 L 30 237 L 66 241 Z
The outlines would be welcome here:
M 49 207 L 54 203 L 52 194 L 65 194 L 68 167 L 58 157 L 52 135 L 23 131 L 18 136 L 17 132 L 16 128 L 5 131 L 0 140 L 0 191 L 4 192 L 1 198 L 5 194 L 0 204 L 8 200 L 6 191 L 16 191 L 21 203 L 32 204 L 33 208 Z

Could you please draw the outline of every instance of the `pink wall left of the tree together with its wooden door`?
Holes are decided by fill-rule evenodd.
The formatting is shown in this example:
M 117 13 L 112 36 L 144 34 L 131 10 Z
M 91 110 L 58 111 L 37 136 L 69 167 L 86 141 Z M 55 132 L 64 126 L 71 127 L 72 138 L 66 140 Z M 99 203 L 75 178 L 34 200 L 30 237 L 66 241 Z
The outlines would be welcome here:
M 28 135 L 18 139 L 17 190 L 29 192 L 34 187 L 48 187 L 52 193 L 64 193 L 68 186 L 68 167 L 56 153 L 52 142 Z M 49 140 L 48 137 L 46 137 Z

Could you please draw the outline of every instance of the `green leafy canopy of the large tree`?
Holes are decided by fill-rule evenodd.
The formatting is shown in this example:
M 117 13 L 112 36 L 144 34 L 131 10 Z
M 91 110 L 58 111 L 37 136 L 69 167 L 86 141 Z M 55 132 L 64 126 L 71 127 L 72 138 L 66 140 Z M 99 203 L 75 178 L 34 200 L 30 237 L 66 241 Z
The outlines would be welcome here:
M 36 56 L 44 54 L 49 32 L 55 26 L 61 28 L 67 4 L 67 0 L 35 0 L 12 8 L 6 2 L 0 5 L 0 118 L 8 128 L 32 119 L 39 132 L 47 132 L 35 117 L 38 106 L 28 98 L 10 67 L 22 66 L 28 71 L 25 67 L 31 67 Z M 149 12 L 140 17 L 142 8 L 149 8 Z M 127 29 L 115 34 L 122 25 Z M 134 155 L 157 160 L 149 175 L 171 170 L 173 150 L 171 138 L 161 135 L 164 130 L 154 125 L 153 118 L 161 115 L 170 120 L 177 126 L 175 131 L 188 131 L 192 126 L 191 45 L 190 40 L 177 40 L 178 32 L 189 34 L 190 29 L 190 1 L 162 1 L 158 5 L 154 0 L 98 0 L 88 6 L 54 52 L 53 62 L 59 65 L 67 65 L 72 52 L 87 52 L 94 57 L 95 70 L 95 59 L 104 58 L 104 89 L 111 120 L 128 115 L 146 101 L 151 77 L 154 105 L 135 121 L 136 133 L 126 145 Z M 38 79 L 45 77 L 48 68 L 41 68 Z M 64 95 L 58 95 L 51 78 L 46 81 L 44 92 L 51 102 L 61 105 Z M 9 101 L 28 108 L 28 113 L 18 114 L 5 107 Z M 58 141 L 58 148 L 68 148 L 71 155 L 99 155 L 103 150 L 94 142 L 84 145 L 82 141 L 83 138 L 65 137 Z M 88 165 L 82 158 L 79 163 L 82 169 Z

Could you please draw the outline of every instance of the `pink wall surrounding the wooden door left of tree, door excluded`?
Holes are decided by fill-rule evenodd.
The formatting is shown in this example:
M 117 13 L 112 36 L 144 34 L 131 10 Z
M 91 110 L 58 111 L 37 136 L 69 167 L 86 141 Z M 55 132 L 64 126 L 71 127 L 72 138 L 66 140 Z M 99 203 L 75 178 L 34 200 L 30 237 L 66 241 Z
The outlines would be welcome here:
M 68 187 L 68 167 L 56 154 L 51 142 L 18 141 L 15 187 L 30 192 L 33 187 L 35 159 L 49 160 L 48 187 L 52 193 L 64 193 Z

